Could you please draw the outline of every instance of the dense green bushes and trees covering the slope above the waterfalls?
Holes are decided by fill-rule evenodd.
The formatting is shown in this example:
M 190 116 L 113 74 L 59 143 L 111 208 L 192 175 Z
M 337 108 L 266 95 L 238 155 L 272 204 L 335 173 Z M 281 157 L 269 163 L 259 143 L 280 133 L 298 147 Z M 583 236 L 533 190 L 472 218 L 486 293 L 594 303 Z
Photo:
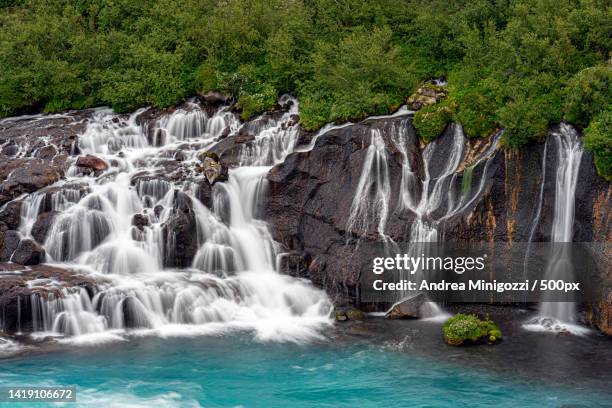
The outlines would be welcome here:
M 292 92 L 305 128 L 384 114 L 421 83 L 449 97 L 415 118 L 504 143 L 585 129 L 612 177 L 608 0 L 3 0 L 0 115 L 168 107 L 231 94 L 244 118 Z

